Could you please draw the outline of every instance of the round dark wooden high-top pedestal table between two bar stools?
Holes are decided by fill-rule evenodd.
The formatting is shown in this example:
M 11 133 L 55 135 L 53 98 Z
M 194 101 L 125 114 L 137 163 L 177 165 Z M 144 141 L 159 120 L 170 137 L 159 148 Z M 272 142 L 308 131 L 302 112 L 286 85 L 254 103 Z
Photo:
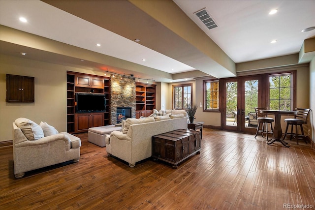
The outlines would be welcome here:
M 280 142 L 284 145 L 284 147 L 290 147 L 287 145 L 284 140 L 281 139 L 282 137 L 282 128 L 281 128 L 281 116 L 282 115 L 296 115 L 297 111 L 282 111 L 282 110 L 260 110 L 260 113 L 263 114 L 274 114 L 275 115 L 275 127 L 274 127 L 274 138 L 268 141 L 268 145 L 274 142 Z

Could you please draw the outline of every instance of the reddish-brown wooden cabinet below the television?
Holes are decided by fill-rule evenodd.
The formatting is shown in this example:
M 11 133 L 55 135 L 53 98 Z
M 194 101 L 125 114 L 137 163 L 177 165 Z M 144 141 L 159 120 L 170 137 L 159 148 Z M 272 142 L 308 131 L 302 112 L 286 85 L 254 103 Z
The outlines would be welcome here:
M 90 127 L 104 125 L 104 113 L 80 113 L 75 114 L 75 132 L 87 132 Z

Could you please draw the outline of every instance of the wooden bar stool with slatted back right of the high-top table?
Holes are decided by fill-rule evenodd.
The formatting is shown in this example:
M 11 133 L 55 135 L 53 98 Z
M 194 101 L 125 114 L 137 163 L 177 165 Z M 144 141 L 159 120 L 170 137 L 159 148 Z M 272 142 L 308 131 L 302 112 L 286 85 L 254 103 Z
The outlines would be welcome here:
M 290 136 L 290 140 L 292 139 L 292 136 L 296 138 L 296 144 L 299 144 L 299 139 L 303 139 L 305 137 L 304 131 L 303 131 L 303 124 L 307 124 L 307 119 L 309 116 L 311 109 L 302 109 L 302 108 L 295 108 L 295 111 L 297 111 L 297 114 L 294 116 L 294 118 L 288 118 L 284 119 L 286 122 L 286 128 L 284 132 L 284 138 L 285 139 L 286 135 Z M 287 132 L 287 129 L 291 125 L 291 133 Z M 293 125 L 295 125 L 295 133 L 293 133 Z M 301 134 L 298 134 L 297 127 L 300 125 L 301 128 Z M 307 141 L 305 140 L 307 143 Z

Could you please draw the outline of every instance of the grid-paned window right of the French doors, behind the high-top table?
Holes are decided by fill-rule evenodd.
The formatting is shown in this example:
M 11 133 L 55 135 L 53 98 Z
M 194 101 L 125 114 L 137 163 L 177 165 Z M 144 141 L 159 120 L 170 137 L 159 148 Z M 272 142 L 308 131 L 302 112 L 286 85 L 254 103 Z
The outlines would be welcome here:
M 292 110 L 292 93 L 292 73 L 269 76 L 269 108 L 271 110 Z

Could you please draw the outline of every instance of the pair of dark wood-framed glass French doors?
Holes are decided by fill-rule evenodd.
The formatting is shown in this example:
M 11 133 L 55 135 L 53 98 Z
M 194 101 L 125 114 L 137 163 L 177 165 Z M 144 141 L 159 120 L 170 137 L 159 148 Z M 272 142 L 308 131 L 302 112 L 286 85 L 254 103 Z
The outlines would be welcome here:
M 255 107 L 262 103 L 261 76 L 229 78 L 223 81 L 222 124 L 224 130 L 255 133 Z

